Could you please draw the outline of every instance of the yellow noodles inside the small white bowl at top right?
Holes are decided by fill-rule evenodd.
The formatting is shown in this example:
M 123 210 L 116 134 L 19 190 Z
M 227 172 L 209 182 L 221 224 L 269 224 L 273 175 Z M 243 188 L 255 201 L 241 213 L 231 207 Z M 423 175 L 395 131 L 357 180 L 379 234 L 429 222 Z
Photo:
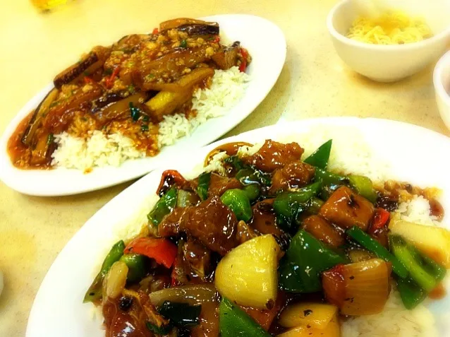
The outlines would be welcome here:
M 422 18 L 390 11 L 375 19 L 357 18 L 347 37 L 372 45 L 403 45 L 432 37 L 432 31 Z

